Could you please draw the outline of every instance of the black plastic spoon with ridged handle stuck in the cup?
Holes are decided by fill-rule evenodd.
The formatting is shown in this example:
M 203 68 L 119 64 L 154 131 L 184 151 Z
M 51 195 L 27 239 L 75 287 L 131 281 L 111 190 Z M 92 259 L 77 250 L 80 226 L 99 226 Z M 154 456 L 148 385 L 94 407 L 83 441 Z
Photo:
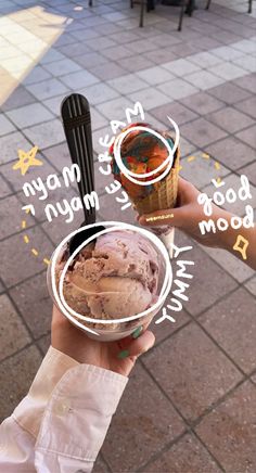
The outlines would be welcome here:
M 81 172 L 81 180 L 77 184 L 85 214 L 81 227 L 85 227 L 95 222 L 95 208 L 86 208 L 84 202 L 84 196 L 94 191 L 91 115 L 88 100 L 80 93 L 72 93 L 62 101 L 61 116 L 72 162 L 79 166 Z M 73 254 L 85 240 L 104 228 L 98 226 L 75 234 L 69 241 L 69 254 Z

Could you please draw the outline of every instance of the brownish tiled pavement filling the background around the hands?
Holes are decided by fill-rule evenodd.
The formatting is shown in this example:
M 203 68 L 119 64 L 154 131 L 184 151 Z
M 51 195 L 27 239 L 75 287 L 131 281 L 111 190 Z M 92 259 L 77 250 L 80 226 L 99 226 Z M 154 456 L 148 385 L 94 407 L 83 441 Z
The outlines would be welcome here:
M 217 176 L 238 187 L 242 172 L 256 184 L 256 36 L 247 2 L 213 1 L 208 12 L 199 2 L 182 33 L 176 30 L 178 9 L 157 4 L 139 28 L 138 7 L 130 10 L 128 1 L 93 4 L 0 4 L 1 418 L 26 393 L 49 345 L 42 259 L 82 218 L 49 223 L 39 201 L 36 216 L 26 218 L 31 246 L 24 243 L 22 187 L 38 169 L 23 179 L 12 165 L 17 149 L 33 144 L 40 148 L 42 178 L 69 163 L 59 117 L 64 95 L 88 97 L 95 156 L 110 119 L 123 118 L 139 100 L 150 123 L 163 128 L 169 114 L 177 120 L 181 174 L 200 189 L 209 190 Z M 191 154 L 195 159 L 188 161 Z M 132 210 L 121 213 L 106 196 L 107 179 L 95 170 L 100 217 L 133 222 Z M 74 193 L 61 189 L 50 199 Z M 191 243 L 179 232 L 176 241 Z M 95 472 L 256 471 L 255 277 L 231 255 L 192 244 L 190 299 L 175 324 L 155 325 L 156 346 L 137 363 Z

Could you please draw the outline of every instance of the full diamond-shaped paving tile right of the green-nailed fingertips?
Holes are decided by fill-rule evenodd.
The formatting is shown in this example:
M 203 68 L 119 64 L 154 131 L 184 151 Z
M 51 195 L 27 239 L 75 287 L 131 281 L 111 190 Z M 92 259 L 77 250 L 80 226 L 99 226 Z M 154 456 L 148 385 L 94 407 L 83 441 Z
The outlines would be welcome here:
M 143 362 L 189 421 L 241 380 L 236 368 L 194 323 L 144 355 Z

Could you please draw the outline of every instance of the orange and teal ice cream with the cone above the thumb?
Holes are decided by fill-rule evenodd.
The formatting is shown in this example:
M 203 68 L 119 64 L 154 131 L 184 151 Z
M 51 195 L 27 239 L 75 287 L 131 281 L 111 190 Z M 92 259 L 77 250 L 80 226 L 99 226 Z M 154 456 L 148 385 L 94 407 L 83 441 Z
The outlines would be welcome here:
M 120 156 L 124 165 L 130 171 L 143 175 L 157 169 L 168 157 L 168 150 L 163 141 L 146 130 L 132 130 L 133 127 L 143 126 L 153 129 L 149 124 L 132 124 L 128 128 L 131 131 L 125 136 L 120 144 Z M 123 130 L 124 131 L 124 130 Z M 170 149 L 174 149 L 174 139 L 167 131 L 159 132 L 168 142 Z M 118 137 L 116 138 L 118 139 Z M 138 180 L 146 182 L 149 186 L 140 186 L 135 183 L 125 176 L 118 167 L 114 156 L 114 145 L 110 149 L 110 154 L 113 157 L 112 170 L 115 179 L 117 179 L 123 188 L 128 193 L 133 206 L 139 215 L 150 214 L 155 210 L 175 207 L 178 193 L 178 175 L 179 175 L 179 157 L 180 151 L 177 148 L 172 166 L 168 174 L 157 182 L 151 183 L 150 181 L 162 175 L 167 168 L 167 164 L 155 174 L 153 177 L 140 177 Z

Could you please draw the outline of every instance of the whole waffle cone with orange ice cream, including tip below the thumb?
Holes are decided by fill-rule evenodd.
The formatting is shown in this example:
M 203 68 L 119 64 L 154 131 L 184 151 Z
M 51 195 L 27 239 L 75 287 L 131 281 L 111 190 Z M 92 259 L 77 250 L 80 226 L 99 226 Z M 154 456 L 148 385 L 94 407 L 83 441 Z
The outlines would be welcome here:
M 170 118 L 169 118 L 170 119 Z M 139 216 L 175 207 L 179 178 L 179 129 L 172 122 L 176 138 L 157 131 L 149 124 L 131 124 L 110 149 L 112 170 L 128 193 Z M 172 256 L 174 228 L 164 226 L 166 216 L 157 217 L 154 231 Z

